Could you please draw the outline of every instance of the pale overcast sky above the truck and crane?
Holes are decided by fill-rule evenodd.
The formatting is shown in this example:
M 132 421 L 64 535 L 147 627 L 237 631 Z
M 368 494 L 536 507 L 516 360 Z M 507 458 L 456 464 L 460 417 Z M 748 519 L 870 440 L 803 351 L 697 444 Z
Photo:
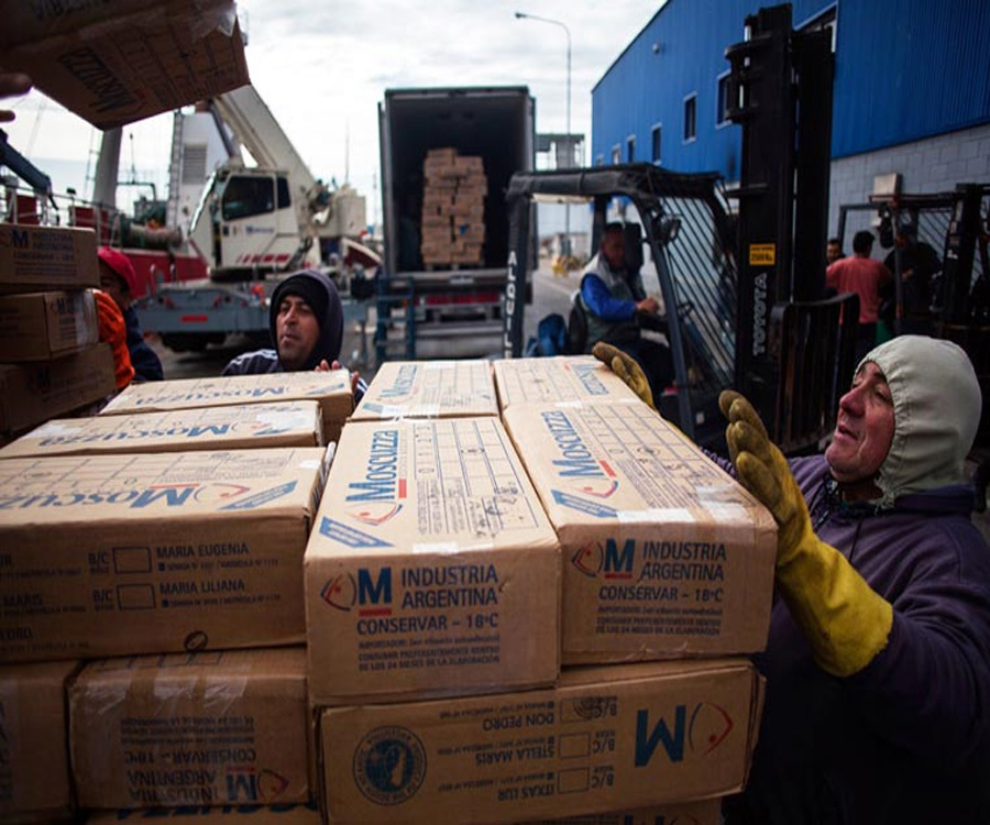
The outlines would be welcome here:
M 612 0 L 240 0 L 251 80 L 316 177 L 351 183 L 380 200 L 377 103 L 387 88 L 529 86 L 537 130 L 566 123 L 566 34 L 517 20 L 558 20 L 571 34 L 571 128 L 591 134 L 591 90 L 661 2 Z M 11 144 L 53 177 L 56 193 L 89 196 L 100 133 L 40 92 L 11 101 Z M 121 167 L 167 185 L 172 116 L 124 128 Z M 92 154 L 91 154 L 92 153 Z M 66 161 L 75 162 L 68 172 Z M 81 172 L 80 172 L 81 169 Z M 91 174 L 92 169 L 90 169 Z

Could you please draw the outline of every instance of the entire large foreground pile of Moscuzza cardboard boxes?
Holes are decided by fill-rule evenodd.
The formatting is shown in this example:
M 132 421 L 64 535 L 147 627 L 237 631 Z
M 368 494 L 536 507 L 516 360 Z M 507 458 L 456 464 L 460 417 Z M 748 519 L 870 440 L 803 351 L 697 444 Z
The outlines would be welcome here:
M 384 364 L 328 476 L 176 384 L 0 452 L 0 815 L 718 822 L 774 528 L 607 369 Z

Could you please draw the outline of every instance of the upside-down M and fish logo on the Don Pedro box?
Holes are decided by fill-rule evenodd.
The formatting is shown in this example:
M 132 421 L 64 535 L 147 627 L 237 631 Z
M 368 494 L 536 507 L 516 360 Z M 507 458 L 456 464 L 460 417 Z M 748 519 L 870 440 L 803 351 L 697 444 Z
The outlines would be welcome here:
M 712 702 L 698 702 L 688 722 L 688 706 L 674 708 L 673 732 L 661 716 L 650 728 L 650 712 L 636 712 L 636 767 L 650 763 L 658 745 L 663 746 L 671 762 L 682 762 L 685 757 L 706 756 L 726 740 L 733 729 L 733 719 L 724 707 Z

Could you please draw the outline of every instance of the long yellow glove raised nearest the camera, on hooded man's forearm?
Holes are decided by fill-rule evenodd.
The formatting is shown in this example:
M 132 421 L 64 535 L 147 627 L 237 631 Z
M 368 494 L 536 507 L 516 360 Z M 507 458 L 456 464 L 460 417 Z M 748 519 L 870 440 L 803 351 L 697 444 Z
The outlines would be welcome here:
M 846 558 L 815 536 L 804 496 L 756 410 L 730 389 L 718 396 L 739 481 L 777 520 L 777 584 L 818 666 L 862 670 L 887 646 L 893 607 Z

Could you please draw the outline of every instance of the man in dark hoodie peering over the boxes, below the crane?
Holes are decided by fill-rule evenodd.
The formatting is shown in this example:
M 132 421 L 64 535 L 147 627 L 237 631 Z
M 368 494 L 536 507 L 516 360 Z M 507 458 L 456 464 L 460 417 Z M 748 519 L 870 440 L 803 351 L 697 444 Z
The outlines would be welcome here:
M 272 294 L 268 330 L 275 349 L 245 352 L 233 359 L 223 375 L 327 372 L 341 369 L 343 306 L 330 276 L 317 270 L 289 275 Z M 353 374 L 354 397 L 366 388 Z

